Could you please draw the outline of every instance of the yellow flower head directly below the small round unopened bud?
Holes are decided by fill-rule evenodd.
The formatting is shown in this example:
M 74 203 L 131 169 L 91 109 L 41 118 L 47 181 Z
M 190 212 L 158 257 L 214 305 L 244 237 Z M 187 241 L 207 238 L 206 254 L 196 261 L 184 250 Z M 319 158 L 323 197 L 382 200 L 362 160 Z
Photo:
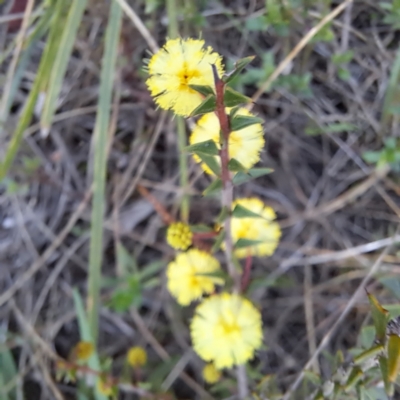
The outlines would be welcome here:
M 206 275 L 220 268 L 218 260 L 204 251 L 190 249 L 180 253 L 168 264 L 168 290 L 179 304 L 186 306 L 204 293 L 213 292 L 215 285 L 223 284 L 221 278 Z

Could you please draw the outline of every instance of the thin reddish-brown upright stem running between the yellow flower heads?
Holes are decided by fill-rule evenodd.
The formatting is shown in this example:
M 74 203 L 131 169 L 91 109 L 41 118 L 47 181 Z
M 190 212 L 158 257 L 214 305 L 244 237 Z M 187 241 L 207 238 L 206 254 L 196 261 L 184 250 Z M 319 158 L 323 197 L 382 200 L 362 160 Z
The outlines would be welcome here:
M 229 275 L 233 279 L 235 292 L 240 292 L 240 275 L 235 268 L 233 263 L 233 240 L 231 232 L 231 217 L 230 213 L 232 211 L 232 201 L 233 201 L 233 184 L 231 179 L 231 174 L 228 169 L 229 163 L 229 135 L 231 133 L 231 128 L 229 126 L 229 118 L 226 114 L 225 104 L 224 104 L 224 90 L 225 82 L 219 77 L 218 71 L 215 65 L 212 65 L 212 71 L 215 83 L 215 94 L 216 94 L 216 110 L 215 114 L 218 117 L 219 124 L 221 127 L 221 150 L 219 152 L 221 158 L 221 180 L 222 180 L 222 196 L 221 203 L 222 208 L 228 211 L 228 215 L 224 221 L 224 232 L 225 232 L 225 256 L 227 262 L 227 268 Z

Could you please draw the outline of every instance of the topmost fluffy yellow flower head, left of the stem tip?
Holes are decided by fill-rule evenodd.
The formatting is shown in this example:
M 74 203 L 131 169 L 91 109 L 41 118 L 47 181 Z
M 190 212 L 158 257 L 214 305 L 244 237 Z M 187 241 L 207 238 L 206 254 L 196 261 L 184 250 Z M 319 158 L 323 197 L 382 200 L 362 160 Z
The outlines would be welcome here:
M 223 74 L 221 56 L 204 40 L 170 39 L 150 59 L 146 84 L 161 108 L 188 116 L 203 100 L 189 85 L 214 87 L 211 64 Z

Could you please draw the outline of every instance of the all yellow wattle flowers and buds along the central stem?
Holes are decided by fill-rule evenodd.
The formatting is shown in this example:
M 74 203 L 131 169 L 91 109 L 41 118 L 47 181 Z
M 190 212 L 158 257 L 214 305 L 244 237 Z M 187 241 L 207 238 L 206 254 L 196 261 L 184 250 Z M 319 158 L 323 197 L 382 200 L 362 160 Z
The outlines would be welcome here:
M 206 47 L 203 40 L 168 40 L 148 61 L 146 84 L 160 108 L 172 110 L 176 115 L 191 116 L 201 113 L 198 110 L 203 107 L 203 101 L 215 96 L 212 65 L 214 72 L 222 76 L 222 57 Z M 261 120 L 243 107 L 235 108 L 225 100 L 224 105 L 232 127 L 227 140 L 229 159 L 234 159 L 237 168 L 231 172 L 247 173 L 260 160 L 265 145 Z M 211 159 L 217 167 L 220 164 L 221 127 L 214 112 L 204 112 L 189 141 L 192 146 L 202 146 L 203 142 L 213 146 L 209 153 L 203 149 L 205 158 L 194 154 L 194 159 L 207 174 L 214 176 L 218 168 L 212 167 L 214 174 L 209 162 Z M 238 206 L 241 214 L 235 214 Z M 259 199 L 236 200 L 231 216 L 231 236 L 236 244 L 234 256 L 273 254 L 281 236 L 275 218 L 274 210 Z M 182 306 L 200 301 L 190 332 L 194 350 L 207 362 L 204 380 L 212 384 L 219 380 L 220 369 L 244 364 L 254 357 L 263 341 L 262 319 L 259 310 L 244 296 L 227 293 L 225 289 L 218 293 L 218 286 L 225 284 L 224 272 L 214 255 L 193 247 L 195 236 L 182 222 L 169 226 L 167 242 L 181 252 L 168 264 L 167 288 Z

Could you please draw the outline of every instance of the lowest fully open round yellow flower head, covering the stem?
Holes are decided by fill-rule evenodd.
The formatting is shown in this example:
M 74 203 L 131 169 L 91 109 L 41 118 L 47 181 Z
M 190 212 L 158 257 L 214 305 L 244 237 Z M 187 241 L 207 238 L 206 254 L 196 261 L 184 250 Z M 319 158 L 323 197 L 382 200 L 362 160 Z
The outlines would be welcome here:
M 244 364 L 261 346 L 261 325 L 261 314 L 249 300 L 229 293 L 211 296 L 195 310 L 193 348 L 217 369 Z

